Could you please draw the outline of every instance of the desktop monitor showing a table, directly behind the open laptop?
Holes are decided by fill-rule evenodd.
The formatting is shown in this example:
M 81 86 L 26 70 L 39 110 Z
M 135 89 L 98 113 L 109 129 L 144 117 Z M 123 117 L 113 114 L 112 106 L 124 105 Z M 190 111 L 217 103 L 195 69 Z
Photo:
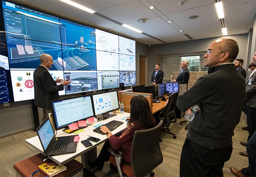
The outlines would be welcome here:
M 66 128 L 78 120 L 86 120 L 94 116 L 90 95 L 54 100 L 51 103 L 56 130 Z

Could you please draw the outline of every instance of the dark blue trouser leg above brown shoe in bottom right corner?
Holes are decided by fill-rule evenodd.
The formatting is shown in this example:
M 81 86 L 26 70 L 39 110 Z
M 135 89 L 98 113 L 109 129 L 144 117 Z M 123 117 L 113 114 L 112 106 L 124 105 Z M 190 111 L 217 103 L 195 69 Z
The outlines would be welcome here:
M 246 152 L 248 155 L 249 166 L 243 168 L 241 173 L 244 176 L 256 176 L 256 132 L 252 135 L 246 145 Z

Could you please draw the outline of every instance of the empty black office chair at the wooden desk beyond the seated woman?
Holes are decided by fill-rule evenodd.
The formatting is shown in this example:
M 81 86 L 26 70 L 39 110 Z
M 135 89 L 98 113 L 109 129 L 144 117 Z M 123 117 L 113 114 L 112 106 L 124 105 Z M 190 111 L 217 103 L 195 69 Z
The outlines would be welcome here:
M 170 124 L 177 122 L 176 114 L 175 114 L 175 107 L 176 107 L 176 100 L 178 97 L 178 93 L 174 93 L 169 96 L 169 101 L 164 109 L 164 112 L 159 113 L 159 119 L 163 120 L 164 123 L 162 124 L 161 132 L 168 133 L 174 135 L 173 138 L 176 139 L 177 136 L 174 133 L 170 132 Z M 159 141 L 162 142 L 162 138 L 159 138 Z

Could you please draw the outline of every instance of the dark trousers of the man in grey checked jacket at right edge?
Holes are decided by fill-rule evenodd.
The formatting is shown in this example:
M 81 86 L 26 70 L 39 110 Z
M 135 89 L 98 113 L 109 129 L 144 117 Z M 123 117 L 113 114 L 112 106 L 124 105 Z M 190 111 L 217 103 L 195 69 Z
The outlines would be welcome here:
M 247 110 L 247 126 L 249 129 L 249 136 L 247 138 L 247 142 L 248 142 L 256 130 L 256 108 L 246 105 L 246 110 Z

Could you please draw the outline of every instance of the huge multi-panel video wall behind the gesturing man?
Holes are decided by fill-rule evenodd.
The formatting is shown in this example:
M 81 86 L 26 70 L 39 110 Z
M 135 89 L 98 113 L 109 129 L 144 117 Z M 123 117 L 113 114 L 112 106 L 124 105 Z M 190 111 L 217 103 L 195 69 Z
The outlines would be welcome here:
M 7 1 L 1 4 L 7 56 L 0 66 L 10 70 L 14 101 L 34 99 L 33 72 L 44 53 L 53 57 L 53 79 L 71 79 L 59 95 L 135 85 L 135 41 Z

